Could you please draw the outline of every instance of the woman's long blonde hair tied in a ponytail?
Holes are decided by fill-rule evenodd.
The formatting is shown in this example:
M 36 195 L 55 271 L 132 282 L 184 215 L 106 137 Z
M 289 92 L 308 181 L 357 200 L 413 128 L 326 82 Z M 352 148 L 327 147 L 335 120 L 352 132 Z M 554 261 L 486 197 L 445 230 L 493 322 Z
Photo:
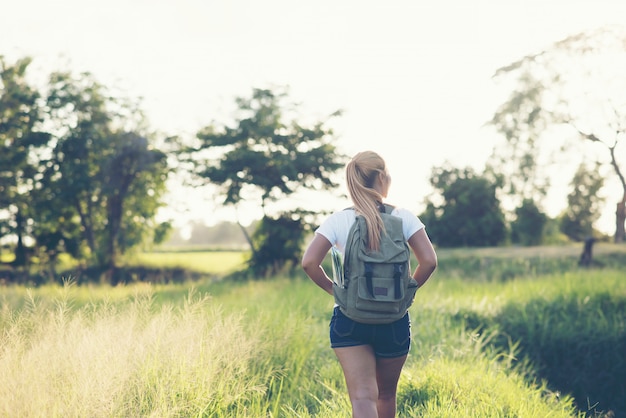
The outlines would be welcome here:
M 373 151 L 359 152 L 346 166 L 348 193 L 357 214 L 365 218 L 368 247 L 372 251 L 378 251 L 384 230 L 379 211 L 383 196 L 374 189 L 376 177 L 380 173 L 386 173 L 385 160 Z

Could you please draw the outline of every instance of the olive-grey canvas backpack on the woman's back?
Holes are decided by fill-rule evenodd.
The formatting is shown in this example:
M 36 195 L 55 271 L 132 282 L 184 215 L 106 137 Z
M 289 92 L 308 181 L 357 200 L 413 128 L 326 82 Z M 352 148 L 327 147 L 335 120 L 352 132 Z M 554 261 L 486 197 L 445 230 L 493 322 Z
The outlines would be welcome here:
M 391 215 L 393 206 L 383 206 L 380 215 L 385 228 L 379 251 L 368 249 L 365 218 L 357 215 L 344 251 L 343 281 L 333 284 L 335 303 L 341 311 L 366 324 L 387 324 L 402 318 L 418 287 L 411 277 L 411 252 L 402 232 L 402 219 Z

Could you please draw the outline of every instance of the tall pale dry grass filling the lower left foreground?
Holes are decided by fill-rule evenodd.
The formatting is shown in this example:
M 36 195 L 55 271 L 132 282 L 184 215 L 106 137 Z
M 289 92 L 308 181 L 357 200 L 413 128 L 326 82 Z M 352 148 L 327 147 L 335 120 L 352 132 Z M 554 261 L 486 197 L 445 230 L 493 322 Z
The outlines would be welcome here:
M 33 297 L 3 309 L 0 416 L 228 416 L 265 390 L 267 376 L 249 372 L 261 336 L 208 296 L 156 308 L 140 287 L 123 307 L 74 308 L 69 293 L 52 309 Z

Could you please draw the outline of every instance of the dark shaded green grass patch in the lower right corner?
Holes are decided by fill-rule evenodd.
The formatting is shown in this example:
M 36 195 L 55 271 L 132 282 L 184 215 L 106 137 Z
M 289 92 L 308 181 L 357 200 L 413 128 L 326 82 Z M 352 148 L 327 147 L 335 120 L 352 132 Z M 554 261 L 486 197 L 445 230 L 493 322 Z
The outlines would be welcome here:
M 497 329 L 499 347 L 514 337 L 535 375 L 573 394 L 581 407 L 602 401 L 626 411 L 623 271 L 547 276 L 524 287 L 512 283 L 501 294 L 497 309 L 459 312 L 468 328 Z

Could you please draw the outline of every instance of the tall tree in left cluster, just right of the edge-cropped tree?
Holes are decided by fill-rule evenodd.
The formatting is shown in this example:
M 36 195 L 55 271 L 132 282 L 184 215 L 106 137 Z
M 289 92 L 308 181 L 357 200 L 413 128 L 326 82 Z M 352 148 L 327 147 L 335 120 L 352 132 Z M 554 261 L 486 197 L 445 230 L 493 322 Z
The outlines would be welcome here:
M 47 97 L 51 128 L 57 142 L 47 164 L 47 187 L 55 201 L 65 202 L 76 222 L 85 254 L 91 262 L 105 264 L 103 242 L 106 225 L 100 170 L 112 148 L 111 115 L 104 86 L 89 74 L 75 77 L 67 72 L 50 76 Z

